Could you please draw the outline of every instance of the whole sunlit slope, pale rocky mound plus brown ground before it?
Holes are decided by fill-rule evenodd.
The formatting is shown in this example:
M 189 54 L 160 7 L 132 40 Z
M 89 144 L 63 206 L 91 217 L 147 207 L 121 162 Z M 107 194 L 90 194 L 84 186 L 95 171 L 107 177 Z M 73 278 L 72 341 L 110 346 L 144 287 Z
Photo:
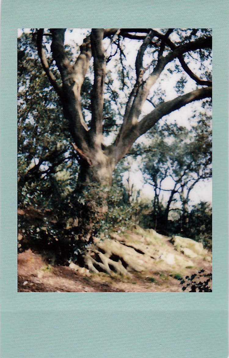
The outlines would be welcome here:
M 196 292 L 212 289 L 212 253 L 201 243 L 136 227 L 94 238 L 86 267 L 50 265 L 39 253 L 18 255 L 19 292 Z

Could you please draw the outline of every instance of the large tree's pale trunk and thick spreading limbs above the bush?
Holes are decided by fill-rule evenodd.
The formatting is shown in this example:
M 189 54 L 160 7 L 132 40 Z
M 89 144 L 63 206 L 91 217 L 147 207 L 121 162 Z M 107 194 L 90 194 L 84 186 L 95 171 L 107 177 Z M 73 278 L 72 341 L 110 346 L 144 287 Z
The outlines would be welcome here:
M 65 46 L 65 33 L 65 29 L 37 29 L 33 36 L 36 38 L 42 68 L 57 93 L 63 115 L 68 121 L 73 147 L 81 167 L 79 178 L 83 182 L 96 180 L 102 184 L 110 184 L 117 163 L 128 153 L 138 137 L 151 129 L 160 118 L 190 102 L 212 96 L 209 70 L 203 66 L 211 56 L 210 30 L 92 29 L 80 45 L 77 58 L 69 56 Z M 126 39 L 131 56 L 131 42 L 138 44 L 134 73 L 125 68 Z M 115 78 L 109 76 L 112 71 L 106 71 L 106 67 L 112 57 L 117 61 L 118 56 L 119 67 L 113 68 L 113 72 L 117 72 Z M 92 58 L 93 74 L 88 74 Z M 199 62 L 197 68 L 189 66 L 192 59 L 194 63 Z M 169 67 L 171 64 L 173 66 Z M 39 66 L 37 63 L 37 67 Z M 156 86 L 157 83 L 160 86 L 160 78 L 166 71 L 173 76 L 173 69 L 174 76 L 179 72 L 193 80 L 195 86 L 192 91 L 168 101 L 160 96 L 156 100 L 153 98 L 153 110 L 141 115 L 144 103 L 147 100 L 152 102 L 153 92 L 157 93 Z M 121 85 L 119 91 L 114 91 L 112 81 L 116 81 L 118 77 Z M 81 100 L 84 96 L 82 87 L 87 81 L 92 86 L 89 106 L 91 119 L 88 123 L 83 115 Z M 106 120 L 110 120 L 105 117 L 104 112 L 105 93 L 110 91 L 110 96 L 113 96 L 113 101 L 118 106 L 122 101 L 119 94 L 121 90 L 126 97 L 126 101 L 123 101 L 125 108 L 120 111 L 122 123 L 119 116 L 120 124 L 116 123 L 114 128 L 116 136 L 111 144 L 105 145 L 103 127 L 106 128 Z

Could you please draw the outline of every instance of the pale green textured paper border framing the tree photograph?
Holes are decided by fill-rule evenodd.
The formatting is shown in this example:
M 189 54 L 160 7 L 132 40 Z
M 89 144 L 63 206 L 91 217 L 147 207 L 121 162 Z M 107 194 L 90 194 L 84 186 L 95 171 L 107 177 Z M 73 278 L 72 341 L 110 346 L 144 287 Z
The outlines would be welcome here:
M 17 28 L 213 28 L 213 292 L 17 292 Z M 1 1 L 1 358 L 228 357 L 229 6 Z

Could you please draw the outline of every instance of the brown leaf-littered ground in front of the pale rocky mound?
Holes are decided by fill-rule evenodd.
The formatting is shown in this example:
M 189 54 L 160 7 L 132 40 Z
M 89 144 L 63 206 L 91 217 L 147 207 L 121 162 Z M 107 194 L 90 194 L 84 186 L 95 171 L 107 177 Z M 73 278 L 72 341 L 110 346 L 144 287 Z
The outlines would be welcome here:
M 163 252 L 174 246 L 166 240 Z M 27 250 L 18 254 L 19 292 L 183 292 L 178 278 L 198 274 L 199 270 L 212 272 L 212 263 L 200 258 L 192 259 L 193 266 L 171 270 L 169 263 L 163 268 L 155 262 L 151 270 L 131 271 L 129 276 L 80 272 L 68 266 L 49 265 L 39 253 Z

